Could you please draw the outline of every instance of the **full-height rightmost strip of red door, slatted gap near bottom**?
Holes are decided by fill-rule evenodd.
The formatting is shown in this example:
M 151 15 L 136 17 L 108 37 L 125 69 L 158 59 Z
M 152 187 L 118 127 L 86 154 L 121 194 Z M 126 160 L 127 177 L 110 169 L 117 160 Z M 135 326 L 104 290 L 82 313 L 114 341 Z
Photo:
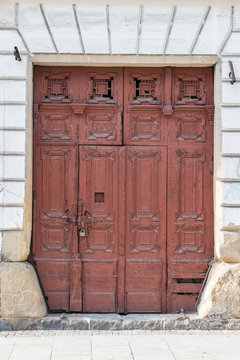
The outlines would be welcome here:
M 168 120 L 168 312 L 193 311 L 213 256 L 212 69 L 174 69 Z

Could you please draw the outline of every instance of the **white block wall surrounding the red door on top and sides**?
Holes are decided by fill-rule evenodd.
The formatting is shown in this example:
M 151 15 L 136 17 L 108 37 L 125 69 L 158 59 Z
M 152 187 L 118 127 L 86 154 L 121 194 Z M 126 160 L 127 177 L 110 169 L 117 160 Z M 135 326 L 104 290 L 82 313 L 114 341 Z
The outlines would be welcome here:
M 110 6 L 104 1 L 96 3 L 89 6 L 82 1 L 74 6 L 66 0 L 56 6 L 43 1 L 40 6 L 37 1 L 20 1 L 18 5 L 0 1 L 0 246 L 2 238 L 22 239 L 26 230 L 26 146 L 27 152 L 31 151 L 26 142 L 26 119 L 31 124 L 31 104 L 27 99 L 31 99 L 31 64 L 36 59 L 39 63 L 38 54 L 132 54 L 136 63 L 141 62 L 143 54 L 218 55 L 222 80 L 218 89 L 221 106 L 217 105 L 221 124 L 215 138 L 215 237 L 221 239 L 229 231 L 237 234 L 240 6 L 235 1 L 203 1 L 198 6 L 157 1 L 142 2 L 141 6 L 138 1 L 122 5 L 110 1 Z M 21 53 L 21 62 L 14 59 L 14 46 Z M 237 77 L 234 85 L 229 82 L 229 60 Z M 74 61 L 76 65 L 77 58 Z M 31 220 L 29 211 L 26 216 Z M 219 244 L 221 241 L 216 241 L 216 254 L 224 258 Z

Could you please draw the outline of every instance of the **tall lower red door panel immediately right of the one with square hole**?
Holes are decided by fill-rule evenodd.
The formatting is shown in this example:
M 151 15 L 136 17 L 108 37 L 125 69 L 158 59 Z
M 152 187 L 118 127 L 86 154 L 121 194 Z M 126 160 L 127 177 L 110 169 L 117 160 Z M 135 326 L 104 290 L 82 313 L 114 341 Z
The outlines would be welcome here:
M 164 311 L 166 287 L 164 147 L 127 147 L 126 311 Z

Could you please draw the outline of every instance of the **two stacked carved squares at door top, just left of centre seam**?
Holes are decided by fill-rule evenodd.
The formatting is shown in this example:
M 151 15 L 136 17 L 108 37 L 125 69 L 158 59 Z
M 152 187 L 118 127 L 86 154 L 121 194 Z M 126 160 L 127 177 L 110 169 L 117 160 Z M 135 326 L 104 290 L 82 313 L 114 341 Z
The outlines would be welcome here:
M 81 79 L 79 143 L 122 144 L 123 69 L 82 68 Z

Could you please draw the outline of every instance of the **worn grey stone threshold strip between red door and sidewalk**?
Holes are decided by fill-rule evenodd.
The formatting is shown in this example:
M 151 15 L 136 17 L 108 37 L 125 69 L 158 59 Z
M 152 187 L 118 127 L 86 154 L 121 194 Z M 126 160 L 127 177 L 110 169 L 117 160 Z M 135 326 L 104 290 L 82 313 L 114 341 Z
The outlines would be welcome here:
M 240 330 L 240 319 L 198 314 L 49 314 L 0 319 L 1 331 L 17 330 Z

